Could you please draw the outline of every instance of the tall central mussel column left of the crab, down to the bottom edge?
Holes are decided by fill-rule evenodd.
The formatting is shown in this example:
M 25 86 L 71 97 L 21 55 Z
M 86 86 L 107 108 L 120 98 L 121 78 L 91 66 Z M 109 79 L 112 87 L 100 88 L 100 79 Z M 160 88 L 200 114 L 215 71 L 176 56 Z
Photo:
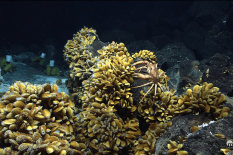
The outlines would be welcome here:
M 123 149 L 132 153 L 141 135 L 130 92 L 133 58 L 123 43 L 112 42 L 98 53 L 92 76 L 83 81 L 81 133 L 95 154 L 118 154 Z

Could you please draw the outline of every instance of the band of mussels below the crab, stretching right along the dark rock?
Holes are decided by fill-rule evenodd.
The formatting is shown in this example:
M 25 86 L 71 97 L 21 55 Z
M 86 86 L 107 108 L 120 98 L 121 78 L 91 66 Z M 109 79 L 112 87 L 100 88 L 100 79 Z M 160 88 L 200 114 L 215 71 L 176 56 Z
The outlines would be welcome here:
M 140 92 L 141 96 L 145 93 Z M 154 121 L 169 121 L 179 114 L 200 112 L 212 113 L 216 119 L 228 115 L 230 109 L 223 107 L 226 101 L 225 95 L 219 92 L 219 88 L 213 87 L 212 83 L 203 83 L 195 85 L 192 89 L 188 89 L 185 94 L 179 97 L 175 95 L 174 90 L 162 92 L 158 88 L 158 94 L 155 96 L 151 91 L 138 103 L 137 109 L 140 116 L 146 119 L 146 122 L 153 123 Z M 195 131 L 195 130 L 193 130 Z

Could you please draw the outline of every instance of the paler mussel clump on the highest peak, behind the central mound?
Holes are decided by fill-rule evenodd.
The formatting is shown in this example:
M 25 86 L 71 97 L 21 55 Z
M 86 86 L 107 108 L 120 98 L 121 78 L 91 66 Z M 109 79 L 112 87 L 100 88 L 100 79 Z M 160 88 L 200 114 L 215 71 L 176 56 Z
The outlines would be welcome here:
M 64 58 L 69 64 L 72 79 L 82 80 L 91 75 L 90 67 L 94 63 L 92 62 L 92 53 L 87 50 L 87 46 L 92 44 L 96 37 L 95 30 L 84 27 L 74 35 L 72 40 L 68 40 L 66 43 Z

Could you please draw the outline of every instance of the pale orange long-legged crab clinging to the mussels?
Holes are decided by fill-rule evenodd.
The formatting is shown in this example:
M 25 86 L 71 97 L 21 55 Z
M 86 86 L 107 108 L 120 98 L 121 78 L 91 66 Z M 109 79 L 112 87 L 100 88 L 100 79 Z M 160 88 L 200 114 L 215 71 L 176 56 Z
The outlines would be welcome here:
M 136 65 L 142 65 L 142 64 L 146 64 L 145 66 L 136 68 L 136 70 L 139 70 L 139 72 L 141 71 L 141 69 L 146 69 L 148 74 L 142 74 L 142 73 L 134 73 L 134 77 L 139 78 L 139 79 L 146 79 L 146 80 L 150 80 L 151 82 L 142 84 L 140 86 L 136 86 L 136 87 L 132 87 L 132 88 L 138 88 L 138 87 L 143 87 L 146 85 L 151 84 L 150 89 L 146 92 L 146 94 L 143 96 L 143 98 L 141 99 L 141 101 L 139 103 L 141 103 L 143 101 L 143 99 L 145 98 L 145 96 L 150 92 L 150 90 L 155 87 L 155 96 L 156 96 L 156 91 L 157 91 L 157 86 L 159 86 L 161 88 L 161 90 L 164 92 L 161 84 L 160 84 L 160 78 L 161 76 L 165 76 L 165 82 L 166 82 L 166 89 L 167 88 L 167 79 L 166 79 L 166 75 L 165 72 L 162 71 L 160 74 L 158 73 L 158 69 L 157 69 L 157 65 L 158 64 L 152 64 L 151 62 L 147 61 L 147 60 L 142 60 L 142 61 L 138 61 L 133 63 L 131 66 L 136 66 Z

